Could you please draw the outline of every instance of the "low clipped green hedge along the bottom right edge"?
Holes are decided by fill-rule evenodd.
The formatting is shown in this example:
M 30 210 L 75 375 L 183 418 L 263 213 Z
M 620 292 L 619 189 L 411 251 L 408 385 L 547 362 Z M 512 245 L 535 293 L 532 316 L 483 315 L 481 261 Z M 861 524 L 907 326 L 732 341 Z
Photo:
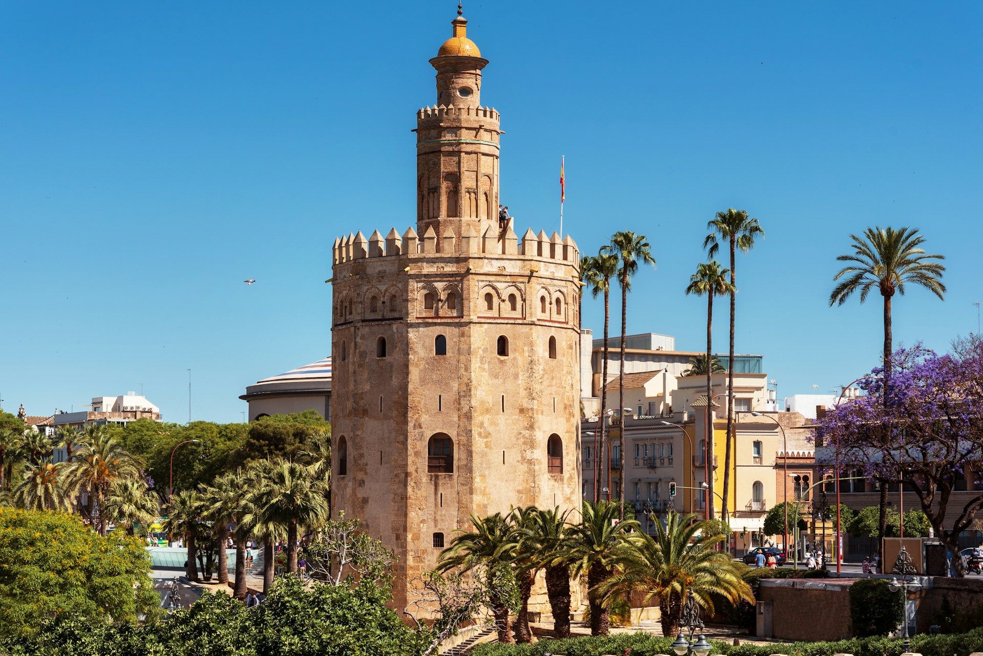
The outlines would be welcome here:
M 630 656 L 656 656 L 672 654 L 673 638 L 651 633 L 619 633 L 607 637 L 574 637 L 565 640 L 542 639 L 536 644 L 498 644 L 487 643 L 476 646 L 473 656 L 604 656 L 605 654 L 627 653 Z M 733 646 L 727 642 L 711 640 L 714 649 L 711 654 L 725 656 L 833 656 L 834 654 L 853 654 L 853 656 L 900 656 L 904 651 L 902 640 L 885 636 L 853 638 L 836 642 L 791 642 L 769 644 L 741 644 Z M 625 649 L 628 649 L 625 652 Z M 911 638 L 911 651 L 922 656 L 969 656 L 973 652 L 983 652 L 983 628 L 966 633 L 942 635 L 916 635 Z

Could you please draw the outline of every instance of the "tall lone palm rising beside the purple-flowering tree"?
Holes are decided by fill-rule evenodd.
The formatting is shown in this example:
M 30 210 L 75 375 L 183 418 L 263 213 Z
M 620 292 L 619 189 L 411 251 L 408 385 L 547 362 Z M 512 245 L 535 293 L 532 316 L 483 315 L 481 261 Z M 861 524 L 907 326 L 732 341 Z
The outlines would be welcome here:
M 841 262 L 849 262 L 839 270 L 834 281 L 842 278 L 830 294 L 830 305 L 842 305 L 854 292 L 860 292 L 860 302 L 867 300 L 871 290 L 877 289 L 884 301 L 884 387 L 891 379 L 892 316 L 891 300 L 895 294 L 904 296 L 907 283 L 920 285 L 945 300 L 946 286 L 942 276 L 946 267 L 930 260 L 946 259 L 945 255 L 929 255 L 921 246 L 925 238 L 917 228 L 867 228 L 862 237 L 850 235 L 853 252 L 839 255 Z M 888 485 L 881 481 L 881 513 L 878 528 L 878 544 L 884 544 L 888 528 Z M 881 553 L 883 561 L 884 554 Z

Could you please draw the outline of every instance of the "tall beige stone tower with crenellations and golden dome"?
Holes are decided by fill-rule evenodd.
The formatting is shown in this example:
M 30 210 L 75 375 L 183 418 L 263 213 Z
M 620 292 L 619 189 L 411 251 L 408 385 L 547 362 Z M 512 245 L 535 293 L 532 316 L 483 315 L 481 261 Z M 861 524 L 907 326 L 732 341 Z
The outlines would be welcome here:
M 467 21 L 417 112 L 417 230 L 333 246 L 332 513 L 394 549 L 394 606 L 471 514 L 580 506 L 577 246 L 498 208 Z

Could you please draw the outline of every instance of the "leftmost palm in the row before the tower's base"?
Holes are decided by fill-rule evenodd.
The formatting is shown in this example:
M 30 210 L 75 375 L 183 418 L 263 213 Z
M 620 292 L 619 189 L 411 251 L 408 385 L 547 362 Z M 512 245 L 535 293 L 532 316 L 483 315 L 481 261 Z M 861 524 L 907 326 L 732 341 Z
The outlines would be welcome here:
M 484 519 L 472 515 L 471 525 L 473 530 L 458 532 L 450 546 L 440 552 L 436 569 L 439 572 L 477 570 L 484 575 L 498 641 L 511 644 L 515 638 L 512 637 L 508 614 L 514 578 L 508 557 L 502 550 L 508 543 L 511 526 L 501 513 Z

